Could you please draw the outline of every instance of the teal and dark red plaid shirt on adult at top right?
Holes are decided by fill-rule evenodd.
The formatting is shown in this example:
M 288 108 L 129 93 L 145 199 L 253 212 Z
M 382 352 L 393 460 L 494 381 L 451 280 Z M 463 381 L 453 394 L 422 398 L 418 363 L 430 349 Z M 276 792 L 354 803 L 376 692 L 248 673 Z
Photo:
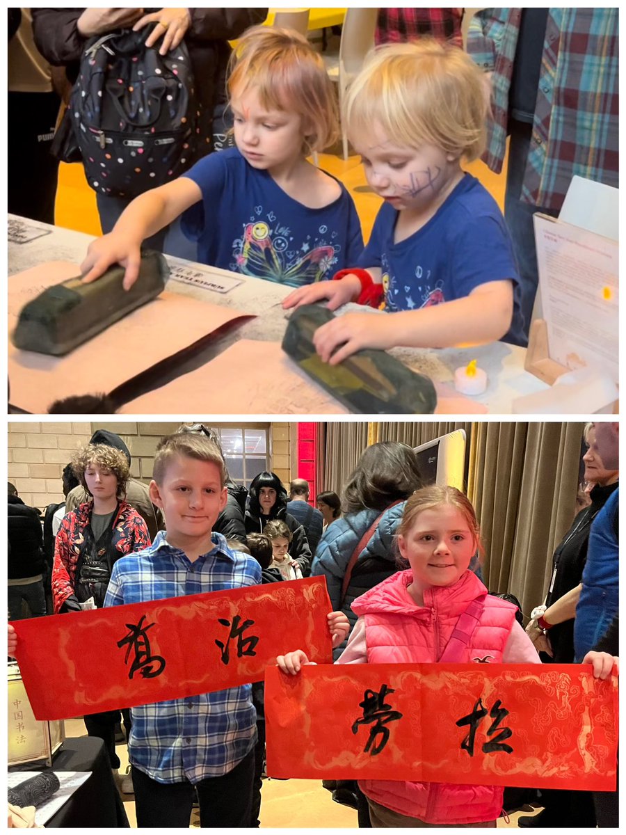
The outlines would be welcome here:
M 470 23 L 467 51 L 492 71 L 489 168 L 502 170 L 519 8 L 489 8 Z M 617 8 L 551 8 L 522 200 L 559 210 L 574 175 L 618 186 Z

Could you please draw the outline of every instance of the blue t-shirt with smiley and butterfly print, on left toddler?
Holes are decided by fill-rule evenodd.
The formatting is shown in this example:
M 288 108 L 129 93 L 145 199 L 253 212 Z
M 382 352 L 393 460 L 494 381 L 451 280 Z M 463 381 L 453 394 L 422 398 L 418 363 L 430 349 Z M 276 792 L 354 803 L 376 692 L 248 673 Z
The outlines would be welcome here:
M 361 256 L 361 222 L 341 183 L 330 205 L 309 209 L 236 148 L 199 159 L 184 176 L 202 191 L 182 228 L 198 241 L 204 264 L 300 287 L 331 279 Z

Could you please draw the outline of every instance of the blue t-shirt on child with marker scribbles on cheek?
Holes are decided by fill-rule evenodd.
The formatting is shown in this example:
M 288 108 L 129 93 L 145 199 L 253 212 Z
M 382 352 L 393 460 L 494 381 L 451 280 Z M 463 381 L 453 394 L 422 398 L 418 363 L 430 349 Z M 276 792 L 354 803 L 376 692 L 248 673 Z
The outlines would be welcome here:
M 385 310 L 439 305 L 469 296 L 487 281 L 511 279 L 513 317 L 502 338 L 527 344 L 511 237 L 496 201 L 475 177 L 466 174 L 422 229 L 395 244 L 397 217 L 391 205 L 381 206 L 357 265 L 381 267 Z

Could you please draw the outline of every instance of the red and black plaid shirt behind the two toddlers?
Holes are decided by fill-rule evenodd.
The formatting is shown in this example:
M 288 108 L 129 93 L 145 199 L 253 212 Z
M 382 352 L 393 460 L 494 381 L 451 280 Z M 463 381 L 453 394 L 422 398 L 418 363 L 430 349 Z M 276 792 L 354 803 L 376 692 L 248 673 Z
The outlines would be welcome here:
M 379 8 L 376 46 L 406 43 L 430 35 L 462 47 L 462 8 Z

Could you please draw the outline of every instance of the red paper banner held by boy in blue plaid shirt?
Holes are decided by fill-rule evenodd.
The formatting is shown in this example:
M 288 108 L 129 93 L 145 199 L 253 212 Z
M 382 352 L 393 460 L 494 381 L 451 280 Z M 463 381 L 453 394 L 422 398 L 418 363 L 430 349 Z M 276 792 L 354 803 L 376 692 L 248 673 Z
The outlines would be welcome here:
M 261 681 L 295 646 L 330 662 L 330 611 L 326 580 L 310 577 L 13 625 L 33 712 L 50 720 Z

